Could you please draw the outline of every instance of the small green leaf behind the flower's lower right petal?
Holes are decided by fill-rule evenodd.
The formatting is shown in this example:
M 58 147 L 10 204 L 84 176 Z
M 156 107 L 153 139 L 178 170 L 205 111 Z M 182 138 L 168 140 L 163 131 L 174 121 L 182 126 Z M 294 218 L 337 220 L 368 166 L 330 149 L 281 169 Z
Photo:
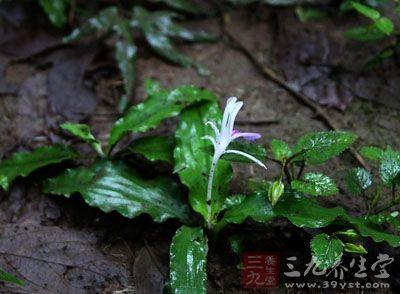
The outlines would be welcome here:
M 246 140 L 237 140 L 233 141 L 229 144 L 228 149 L 230 150 L 238 150 L 250 154 L 260 160 L 261 162 L 265 161 L 265 157 L 267 156 L 267 151 L 261 145 L 251 143 Z M 231 162 L 244 162 L 244 163 L 254 163 L 254 161 L 238 154 L 227 153 L 222 155 L 221 159 L 231 161 Z

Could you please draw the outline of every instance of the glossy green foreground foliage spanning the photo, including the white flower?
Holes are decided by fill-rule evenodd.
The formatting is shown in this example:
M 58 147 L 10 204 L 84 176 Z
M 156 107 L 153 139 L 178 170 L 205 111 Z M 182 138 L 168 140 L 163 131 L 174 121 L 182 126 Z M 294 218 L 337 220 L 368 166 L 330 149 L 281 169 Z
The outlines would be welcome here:
M 248 219 L 267 223 L 286 218 L 301 228 L 321 229 L 323 232 L 311 240 L 313 259 L 320 268 L 337 264 L 343 252 L 366 253 L 361 237 L 400 246 L 400 237 L 384 227 L 391 224 L 399 229 L 397 214 L 387 212 L 400 199 L 396 193 L 399 152 L 372 147 L 362 150 L 366 158 L 379 162 L 382 183 L 368 196 L 372 185 L 370 172 L 361 168 L 348 172 L 349 192 L 361 195 L 369 203 L 364 215 L 352 216 L 342 207 L 328 208 L 317 201 L 317 197 L 337 194 L 339 188 L 329 176 L 307 169 L 338 156 L 356 140 L 355 135 L 308 133 L 293 146 L 275 139 L 269 146 L 272 157 L 267 157 L 266 149 L 253 142 L 260 134 L 234 129 L 236 115 L 243 105 L 237 98 L 229 98 L 222 113 L 215 94 L 205 89 L 182 86 L 167 90 L 147 81 L 146 92 L 148 97 L 143 103 L 131 107 L 116 121 L 106 149 L 88 126 L 62 124 L 63 130 L 91 146 L 96 158 L 88 165 L 60 171 L 44 182 L 43 190 L 65 197 L 79 193 L 90 206 L 104 212 L 117 211 L 128 218 L 145 213 L 155 222 L 180 220 L 182 226 L 170 247 L 168 287 L 172 292 L 205 293 L 208 240 L 217 239 L 227 225 L 240 225 Z M 145 133 L 175 116 L 179 116 L 179 123 L 173 136 L 143 136 L 124 144 L 122 139 L 127 134 Z M 115 152 L 117 144 L 121 152 Z M 180 183 L 187 187 L 187 195 L 172 175 L 145 179 L 134 164 L 124 159 L 127 153 L 140 154 L 152 164 L 170 164 Z M 0 185 L 7 190 L 17 177 L 62 161 L 80 163 L 82 157 L 87 155 L 68 145 L 16 153 L 1 162 Z M 265 178 L 267 159 L 280 165 L 277 179 L 250 181 L 250 195 L 229 193 L 232 162 L 256 163 L 264 171 L 260 177 Z M 389 204 L 381 203 L 386 193 L 384 187 L 389 187 L 393 195 Z

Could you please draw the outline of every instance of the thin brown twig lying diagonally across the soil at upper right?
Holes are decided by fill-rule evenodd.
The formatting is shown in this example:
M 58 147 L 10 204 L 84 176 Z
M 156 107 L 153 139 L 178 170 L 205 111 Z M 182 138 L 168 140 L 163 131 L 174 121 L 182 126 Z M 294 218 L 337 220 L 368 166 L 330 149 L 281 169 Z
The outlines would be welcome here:
M 281 86 L 284 88 L 286 91 L 291 93 L 298 101 L 303 103 L 305 106 L 310 108 L 315 112 L 317 116 L 319 116 L 322 121 L 326 124 L 327 127 L 329 127 L 332 130 L 338 130 L 340 129 L 340 126 L 330 118 L 329 114 L 321 108 L 319 105 L 314 103 L 309 97 L 306 95 L 296 91 L 292 86 L 290 86 L 286 81 L 281 78 L 278 74 L 276 74 L 271 68 L 269 68 L 266 65 L 263 65 L 251 52 L 248 50 L 240 40 L 238 40 L 229 30 L 226 28 L 226 23 L 223 19 L 223 31 L 225 35 L 228 37 L 228 40 L 230 41 L 231 45 L 236 48 L 238 51 L 240 51 L 243 55 L 245 55 L 252 63 L 257 67 L 257 69 L 264 75 L 269 80 L 272 80 L 275 82 L 277 85 Z M 364 161 L 364 159 L 361 157 L 361 155 L 357 152 L 356 149 L 353 147 L 350 147 L 350 152 L 353 155 L 353 157 L 358 161 L 358 163 L 364 167 L 367 170 L 370 170 L 370 167 L 368 164 Z

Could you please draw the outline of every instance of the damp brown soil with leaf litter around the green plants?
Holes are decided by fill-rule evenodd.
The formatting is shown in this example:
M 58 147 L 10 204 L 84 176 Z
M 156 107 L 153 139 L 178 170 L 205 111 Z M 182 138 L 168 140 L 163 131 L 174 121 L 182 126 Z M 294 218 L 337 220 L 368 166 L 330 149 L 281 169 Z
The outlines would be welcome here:
M 0 155 L 6 157 L 15 151 L 70 139 L 58 129 L 58 124 L 67 120 L 89 124 L 98 138 L 106 142 L 119 116 L 117 105 L 121 95 L 121 78 L 109 49 L 99 44 L 88 44 L 85 48 L 60 45 L 59 32 L 43 30 L 40 24 L 27 27 L 22 21 L 22 12 L 13 13 L 19 16 L 15 19 L 21 20 L 18 34 L 7 35 L 3 28 L 1 41 L 5 45 L 0 49 L 0 74 L 3 75 Z M 360 58 L 367 58 L 379 48 L 372 45 L 360 48 L 359 44 L 343 40 L 340 30 L 354 22 L 338 16 L 304 24 L 295 18 L 293 8 L 259 6 L 234 11 L 229 19 L 227 28 L 261 63 L 274 68 L 298 91 L 323 105 L 341 129 L 358 134 L 357 144 L 388 144 L 400 148 L 398 61 L 382 64 L 373 73 L 360 74 Z M 217 18 L 190 21 L 188 26 L 223 35 Z M 32 39 L 34 44 L 28 46 Z M 379 46 L 383 45 L 376 45 Z M 211 74 L 200 76 L 194 69 L 169 64 L 148 48 L 140 47 L 132 103 L 144 99 L 144 81 L 154 78 L 164 87 L 182 84 L 207 87 L 218 94 L 221 104 L 226 97 L 240 97 L 245 107 L 239 114 L 238 124 L 243 129 L 261 133 L 261 144 L 273 138 L 293 143 L 308 131 L 327 130 L 312 110 L 266 79 L 223 37 L 217 43 L 179 47 L 206 65 Z M 175 125 L 176 120 L 170 120 L 153 132 L 172 133 Z M 79 142 L 73 143 L 85 151 L 86 147 Z M 278 166 L 272 163 L 270 166 L 267 179 L 279 174 Z M 331 160 L 323 171 L 343 184 L 342 171 L 354 166 L 357 162 L 351 154 L 344 153 Z M 148 176 L 148 173 L 171 171 L 168 166 L 157 169 L 144 163 L 141 173 Z M 235 165 L 231 191 L 246 192 L 247 179 L 261 172 L 254 166 Z M 0 285 L 0 291 L 161 293 L 168 277 L 169 244 L 179 223 L 169 220 L 157 224 L 147 216 L 128 220 L 117 213 L 105 214 L 91 208 L 78 195 L 70 199 L 43 195 L 35 180 L 54 173 L 57 173 L 54 168 L 39 171 L 17 180 L 9 193 L 0 192 L 0 265 L 18 272 L 28 282 L 22 292 L 10 285 Z M 324 201 L 326 205 L 340 203 L 354 215 L 365 209 L 360 199 L 346 194 Z M 228 227 L 219 239 L 210 243 L 209 292 L 266 292 L 242 288 L 240 257 L 230 249 L 229 236 L 246 235 L 245 251 L 278 252 L 282 267 L 287 257 L 296 256 L 296 267 L 304 271 L 311 258 L 309 241 L 318 232 L 297 228 L 284 220 L 264 225 L 249 221 Z M 390 290 L 365 290 L 364 293 L 397 293 L 400 289 L 398 250 L 370 241 L 366 248 L 370 252 L 367 259 L 373 260 L 378 253 L 386 252 L 397 258 L 397 263 L 391 268 Z M 283 281 L 285 270 L 281 269 Z M 271 291 L 280 292 L 285 290 Z M 359 290 L 341 292 L 360 293 Z

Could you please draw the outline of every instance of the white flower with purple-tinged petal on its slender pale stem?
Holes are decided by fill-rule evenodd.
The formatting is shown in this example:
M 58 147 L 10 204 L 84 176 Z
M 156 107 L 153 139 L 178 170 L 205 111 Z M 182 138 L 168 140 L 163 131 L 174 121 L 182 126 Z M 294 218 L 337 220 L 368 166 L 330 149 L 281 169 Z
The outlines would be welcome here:
M 239 132 L 235 129 L 233 129 L 233 126 L 235 124 L 235 119 L 236 116 L 239 112 L 239 110 L 242 108 L 243 102 L 242 101 L 237 101 L 236 97 L 230 97 L 228 101 L 226 102 L 224 114 L 222 117 L 222 123 L 221 123 L 221 128 L 218 129 L 217 125 L 209 121 L 206 124 L 211 126 L 211 128 L 214 130 L 215 137 L 212 136 L 205 136 L 205 139 L 208 139 L 212 142 L 214 145 L 214 156 L 213 160 L 211 163 L 211 168 L 210 168 L 210 175 L 208 178 L 208 187 L 207 187 L 207 205 L 208 205 L 208 224 L 210 225 L 211 222 L 211 193 L 212 193 L 212 184 L 213 184 L 213 178 L 214 178 L 214 173 L 215 169 L 218 163 L 218 160 L 221 158 L 222 155 L 225 153 L 233 153 L 233 154 L 238 154 L 241 156 L 244 156 L 261 167 L 267 169 L 267 167 L 257 158 L 254 156 L 245 153 L 243 151 L 239 150 L 234 150 L 234 149 L 228 149 L 229 144 L 238 139 L 238 138 L 243 138 L 245 140 L 249 141 L 254 141 L 259 138 L 261 138 L 261 135 L 258 133 L 242 133 Z

